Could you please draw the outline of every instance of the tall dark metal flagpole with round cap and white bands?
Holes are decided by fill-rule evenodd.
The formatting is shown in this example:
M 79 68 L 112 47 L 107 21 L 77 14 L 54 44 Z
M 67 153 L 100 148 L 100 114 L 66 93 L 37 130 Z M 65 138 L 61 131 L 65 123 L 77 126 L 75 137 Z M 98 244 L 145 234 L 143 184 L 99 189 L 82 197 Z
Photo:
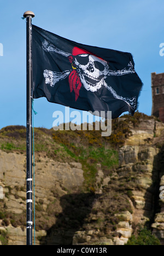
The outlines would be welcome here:
M 26 18 L 26 242 L 32 245 L 32 18 L 34 13 L 27 11 Z

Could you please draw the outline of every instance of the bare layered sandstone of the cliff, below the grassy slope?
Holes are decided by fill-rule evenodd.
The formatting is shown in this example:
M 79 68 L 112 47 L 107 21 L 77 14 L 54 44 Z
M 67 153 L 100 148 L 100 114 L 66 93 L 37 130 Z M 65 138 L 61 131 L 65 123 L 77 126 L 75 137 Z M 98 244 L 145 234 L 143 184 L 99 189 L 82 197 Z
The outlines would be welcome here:
M 164 127 L 141 120 L 131 132 L 118 168 L 105 174 L 97 164 L 94 193 L 83 192 L 80 163 L 36 154 L 36 244 L 124 245 L 147 222 L 164 244 Z M 0 206 L 0 236 L 26 244 L 25 154 L 0 149 Z

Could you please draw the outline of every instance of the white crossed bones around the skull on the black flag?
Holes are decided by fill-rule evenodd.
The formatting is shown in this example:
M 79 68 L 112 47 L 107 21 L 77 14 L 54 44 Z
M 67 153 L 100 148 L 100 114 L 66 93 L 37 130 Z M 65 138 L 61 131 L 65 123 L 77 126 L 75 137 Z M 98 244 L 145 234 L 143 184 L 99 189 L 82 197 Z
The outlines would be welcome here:
M 69 57 L 70 55 L 72 55 L 71 53 L 67 53 L 65 51 L 62 51 L 61 49 L 58 49 L 57 47 L 55 47 L 53 44 L 49 43 L 46 40 L 44 40 L 42 42 L 42 48 L 44 49 L 45 52 L 55 52 L 55 53 L 65 56 L 65 57 Z M 72 69 L 66 70 L 63 72 L 56 72 L 56 71 L 51 71 L 51 70 L 46 69 L 43 72 L 43 75 L 45 77 L 45 84 L 49 84 L 50 86 L 54 87 L 58 81 L 65 79 L 71 73 L 71 71 L 72 71 Z M 107 74 L 106 74 L 106 76 L 104 76 L 104 78 L 106 78 L 107 76 L 111 76 L 111 75 L 112 76 L 122 76 L 122 75 L 126 75 L 126 74 L 132 74 L 135 72 L 136 71 L 134 70 L 132 63 L 129 62 L 128 69 L 124 68 L 121 70 L 110 70 L 108 68 Z M 113 94 L 114 98 L 121 99 L 122 101 L 125 101 L 128 104 L 129 111 L 130 111 L 130 109 L 133 109 L 133 110 L 136 109 L 136 105 L 137 105 L 136 96 L 134 96 L 132 98 L 125 98 L 125 97 L 119 96 L 111 86 L 107 85 L 105 80 L 103 80 L 103 86 L 105 86 L 110 91 L 110 93 Z

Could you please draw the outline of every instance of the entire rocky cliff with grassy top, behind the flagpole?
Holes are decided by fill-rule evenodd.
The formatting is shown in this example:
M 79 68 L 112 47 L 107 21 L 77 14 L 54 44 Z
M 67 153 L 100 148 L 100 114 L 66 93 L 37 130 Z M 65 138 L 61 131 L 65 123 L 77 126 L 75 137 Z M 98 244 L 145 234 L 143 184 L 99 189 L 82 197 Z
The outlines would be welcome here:
M 143 227 L 164 244 L 164 126 L 140 113 L 112 126 L 34 130 L 36 244 L 122 245 Z M 0 147 L 0 241 L 26 244 L 25 127 L 4 127 Z

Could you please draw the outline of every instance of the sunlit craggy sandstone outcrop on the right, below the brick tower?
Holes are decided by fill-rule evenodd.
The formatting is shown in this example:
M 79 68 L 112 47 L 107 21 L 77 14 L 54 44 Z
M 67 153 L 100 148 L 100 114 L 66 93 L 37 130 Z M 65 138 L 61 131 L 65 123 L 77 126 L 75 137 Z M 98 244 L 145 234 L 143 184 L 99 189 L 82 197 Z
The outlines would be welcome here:
M 163 124 L 159 122 L 142 120 L 137 129 L 131 129 L 132 135 L 126 140 L 125 146 L 119 149 L 119 168 L 110 177 L 108 186 L 116 180 L 121 184 L 122 181 L 128 181 L 130 186 L 124 186 L 125 191 L 129 190 L 128 200 L 132 212 L 115 214 L 121 218 L 115 226 L 116 235 L 112 239 L 103 237 L 99 244 L 124 245 L 138 229 L 138 225 L 144 226 L 147 223 L 151 224 L 152 233 L 164 244 L 164 199 L 159 200 L 161 186 L 164 191 L 164 154 L 163 148 L 158 144 L 159 140 L 163 140 L 163 129 Z M 160 212 L 155 214 L 159 210 L 158 202 Z M 73 244 L 94 244 L 90 237 L 91 230 L 89 227 L 87 229 L 89 231 L 75 233 Z M 91 233 L 94 232 L 92 230 Z

